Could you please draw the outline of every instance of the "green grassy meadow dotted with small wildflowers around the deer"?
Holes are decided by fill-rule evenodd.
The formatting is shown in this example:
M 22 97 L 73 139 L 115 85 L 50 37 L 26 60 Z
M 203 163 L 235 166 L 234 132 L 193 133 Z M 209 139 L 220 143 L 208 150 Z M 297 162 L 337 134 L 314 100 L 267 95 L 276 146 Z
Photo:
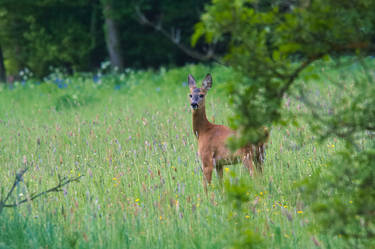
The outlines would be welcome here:
M 234 172 L 251 186 L 247 212 L 233 212 L 216 173 L 206 196 L 186 81 L 192 73 L 201 82 L 207 72 L 208 119 L 228 124 L 224 85 L 232 72 L 221 66 L 55 73 L 44 83 L 0 86 L 0 193 L 26 165 L 11 202 L 56 185 L 59 175 L 83 176 L 62 192 L 4 209 L 0 248 L 230 248 L 239 219 L 264 248 L 340 248 L 342 238 L 314 227 L 296 186 L 342 145 L 319 143 L 303 121 L 272 128 L 263 175 L 225 168 L 226 181 Z M 329 101 L 330 90 L 318 87 Z M 295 99 L 285 105 L 304 112 Z

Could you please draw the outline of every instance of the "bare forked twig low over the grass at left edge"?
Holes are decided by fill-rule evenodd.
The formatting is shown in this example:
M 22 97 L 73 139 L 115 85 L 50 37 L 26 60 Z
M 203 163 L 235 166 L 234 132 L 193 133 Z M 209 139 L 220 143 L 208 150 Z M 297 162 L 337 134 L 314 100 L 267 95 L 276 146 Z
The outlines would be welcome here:
M 4 208 L 17 207 L 17 206 L 21 205 L 22 203 L 33 201 L 36 198 L 41 197 L 43 195 L 47 195 L 48 193 L 51 193 L 51 192 L 61 192 L 62 187 L 64 187 L 65 185 L 67 185 L 71 182 L 79 181 L 79 179 L 83 176 L 83 175 L 81 175 L 81 176 L 78 176 L 78 177 L 70 177 L 70 178 L 67 178 L 67 177 L 61 178 L 59 176 L 58 177 L 58 184 L 55 187 L 49 188 L 49 189 L 47 189 L 43 192 L 37 193 L 37 194 L 32 194 L 31 196 L 28 196 L 25 199 L 22 199 L 20 201 L 17 201 L 17 202 L 11 203 L 11 204 L 7 204 L 7 201 L 10 198 L 10 196 L 12 195 L 16 186 L 21 181 L 23 181 L 23 175 L 26 173 L 26 171 L 28 169 L 29 168 L 24 168 L 16 174 L 16 178 L 14 179 L 13 185 L 12 185 L 11 189 L 9 190 L 8 194 L 6 195 L 6 197 L 4 199 L 0 199 L 0 214 L 3 211 Z

